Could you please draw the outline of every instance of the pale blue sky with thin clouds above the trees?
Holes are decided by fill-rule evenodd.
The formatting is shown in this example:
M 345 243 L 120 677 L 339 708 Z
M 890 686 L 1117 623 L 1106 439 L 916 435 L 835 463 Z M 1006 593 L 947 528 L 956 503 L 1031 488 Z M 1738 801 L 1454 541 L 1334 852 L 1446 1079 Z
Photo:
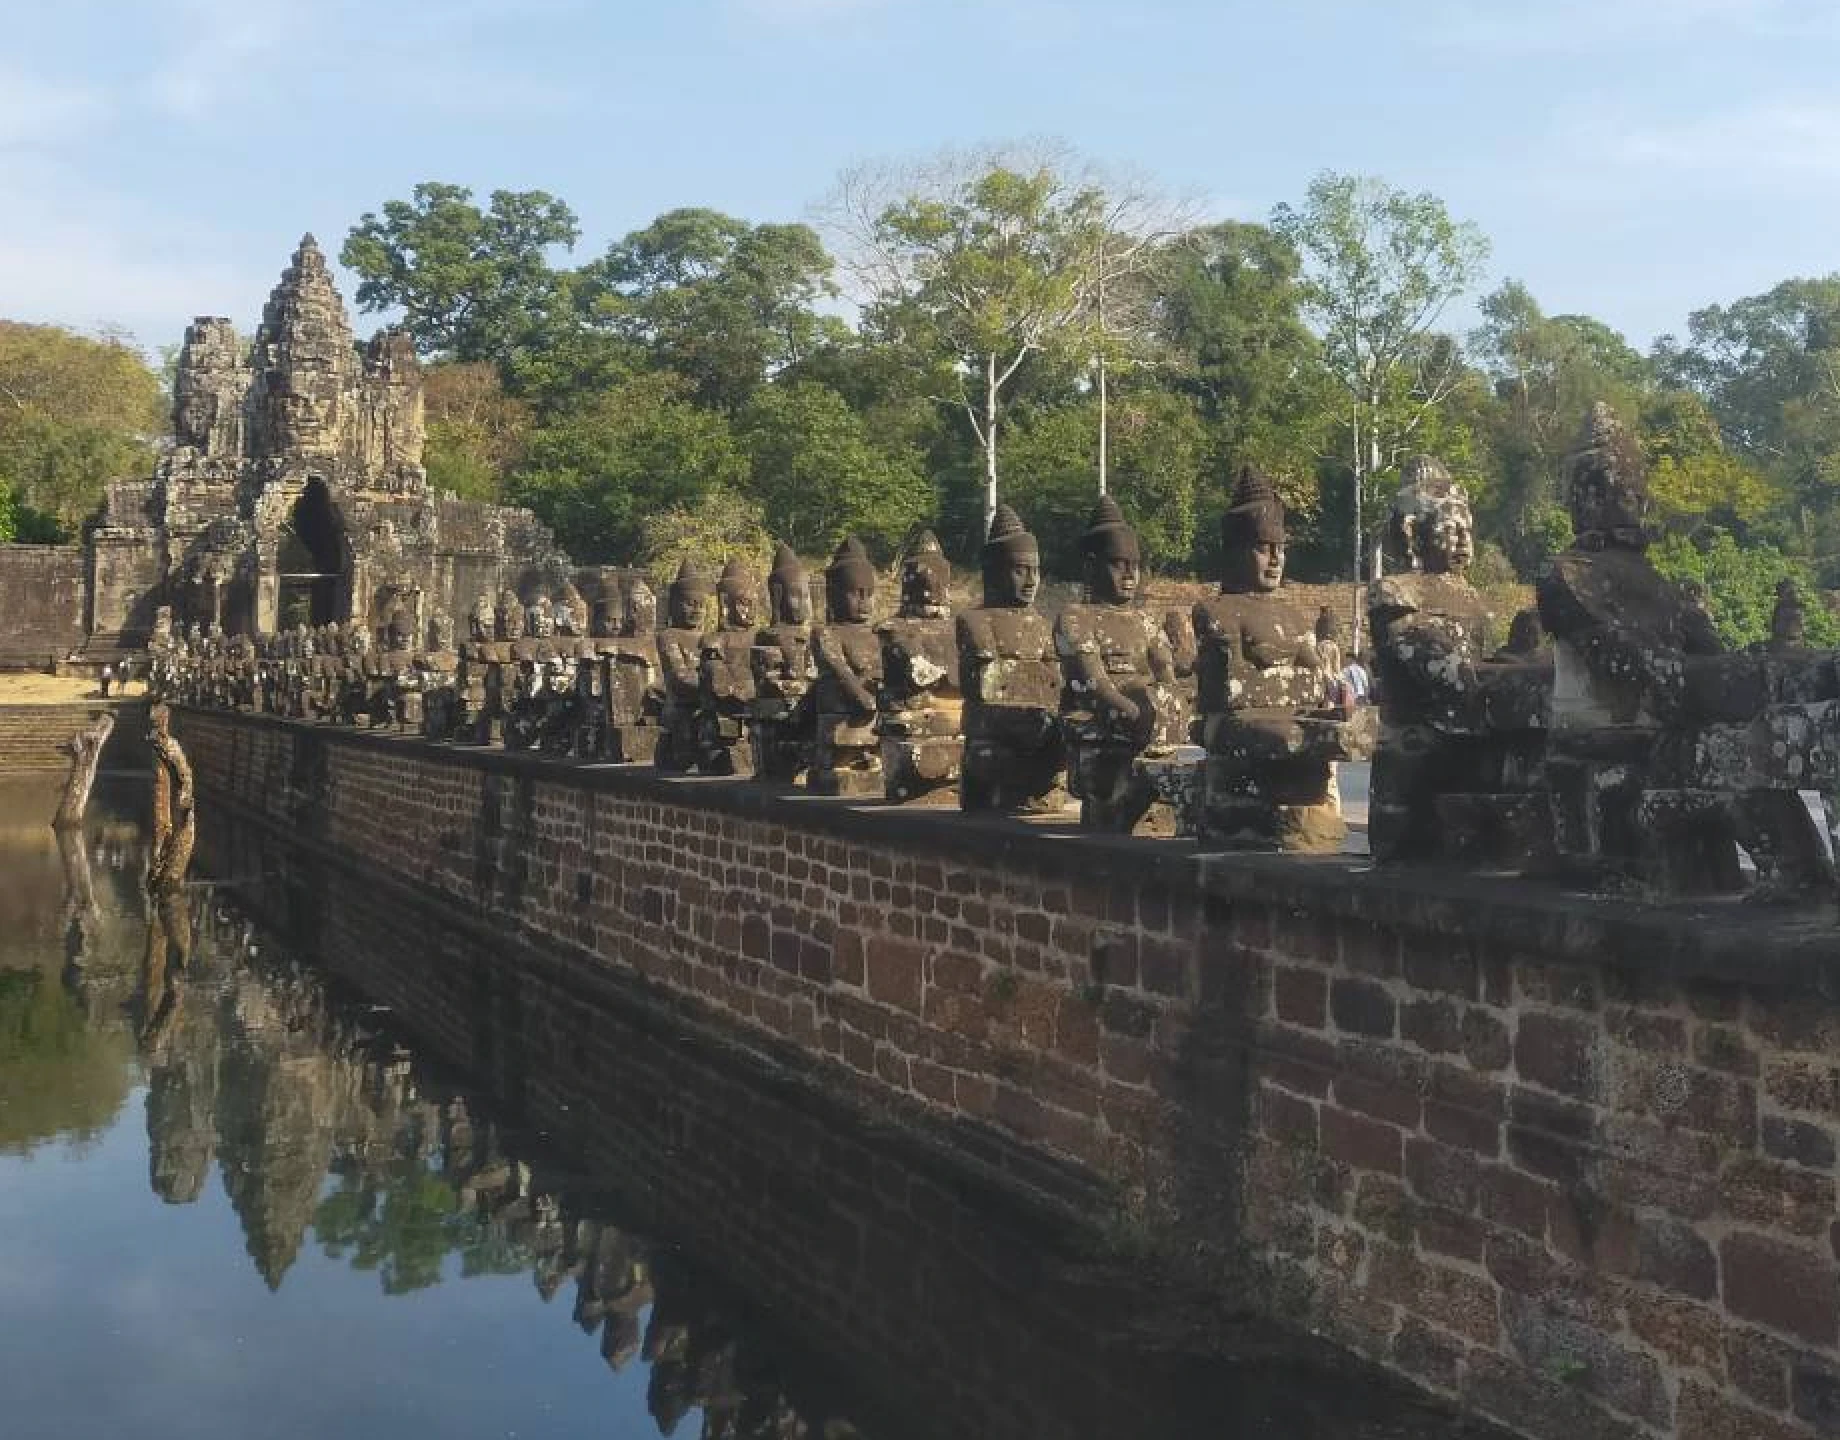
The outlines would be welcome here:
M 254 324 L 418 180 L 808 219 L 846 166 L 1054 136 L 1264 219 L 1441 195 L 1638 344 L 1840 269 L 1833 0 L 0 0 L 0 316 Z M 350 294 L 350 281 L 346 291 Z M 370 322 L 359 322 L 368 329 Z

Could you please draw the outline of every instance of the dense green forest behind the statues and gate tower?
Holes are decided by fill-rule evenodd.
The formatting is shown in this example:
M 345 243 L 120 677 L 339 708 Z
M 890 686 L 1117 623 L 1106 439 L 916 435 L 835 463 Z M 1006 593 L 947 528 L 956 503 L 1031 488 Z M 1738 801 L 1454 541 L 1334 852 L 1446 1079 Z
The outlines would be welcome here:
M 1781 574 L 1840 587 L 1840 274 L 1641 353 L 1485 289 L 1487 239 L 1432 195 L 1325 173 L 1264 223 L 1200 224 L 1016 151 L 850 173 L 819 224 L 673 210 L 580 246 L 558 197 L 421 184 L 340 261 L 429 366 L 431 482 L 530 506 L 581 561 L 846 531 L 887 555 L 922 522 L 970 555 L 1001 495 L 1067 574 L 1106 486 L 1157 570 L 1205 576 L 1249 460 L 1292 506 L 1292 572 L 1347 577 L 1430 451 L 1476 498 L 1481 577 L 1529 577 L 1570 541 L 1562 458 L 1608 399 L 1650 462 L 1658 563 L 1708 583 L 1728 638 L 1763 634 Z M 160 394 L 120 337 L 0 322 L 0 539 L 77 535 L 151 465 Z

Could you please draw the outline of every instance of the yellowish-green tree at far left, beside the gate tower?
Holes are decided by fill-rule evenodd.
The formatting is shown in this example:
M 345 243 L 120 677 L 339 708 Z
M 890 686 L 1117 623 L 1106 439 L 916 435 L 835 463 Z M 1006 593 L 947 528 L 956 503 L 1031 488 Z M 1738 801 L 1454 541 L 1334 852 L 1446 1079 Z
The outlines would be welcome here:
M 160 377 L 127 340 L 0 320 L 0 487 L 18 539 L 59 541 L 153 465 Z

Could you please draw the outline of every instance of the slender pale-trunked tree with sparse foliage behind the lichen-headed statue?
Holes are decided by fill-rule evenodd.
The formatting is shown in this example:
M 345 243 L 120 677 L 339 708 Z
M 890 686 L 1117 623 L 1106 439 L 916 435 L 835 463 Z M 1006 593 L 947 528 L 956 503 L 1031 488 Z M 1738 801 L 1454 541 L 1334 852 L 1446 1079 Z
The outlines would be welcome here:
M 1360 579 L 1380 476 L 1420 443 L 1426 416 L 1463 381 L 1461 351 L 1426 338 L 1444 307 L 1476 283 L 1489 243 L 1435 195 L 1334 171 L 1310 182 L 1301 206 L 1281 204 L 1271 228 L 1303 256 L 1305 311 L 1343 390 Z

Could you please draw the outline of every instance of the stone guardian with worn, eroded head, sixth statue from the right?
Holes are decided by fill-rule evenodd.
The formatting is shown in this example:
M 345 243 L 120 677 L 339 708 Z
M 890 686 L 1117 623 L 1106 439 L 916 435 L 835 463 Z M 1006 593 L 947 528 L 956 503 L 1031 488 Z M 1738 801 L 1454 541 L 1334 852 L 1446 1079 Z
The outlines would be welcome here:
M 881 636 L 881 793 L 898 804 L 957 800 L 964 739 L 959 651 L 951 623 L 951 566 L 922 530 L 902 557 L 902 603 Z

